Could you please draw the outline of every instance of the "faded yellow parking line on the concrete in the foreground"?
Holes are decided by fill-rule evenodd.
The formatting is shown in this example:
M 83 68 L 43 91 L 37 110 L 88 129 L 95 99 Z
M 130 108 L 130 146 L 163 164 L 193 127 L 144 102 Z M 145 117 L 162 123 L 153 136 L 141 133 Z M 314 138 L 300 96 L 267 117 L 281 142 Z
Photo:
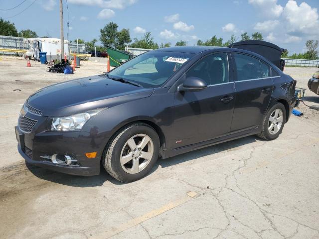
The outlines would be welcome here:
M 93 239 L 107 239 L 107 238 L 113 237 L 121 232 L 124 232 L 124 231 L 126 231 L 134 226 L 139 225 L 140 223 L 143 223 L 143 222 L 145 222 L 151 218 L 154 218 L 154 217 L 156 217 L 164 212 L 167 212 L 170 209 L 173 209 L 179 205 L 182 205 L 182 204 L 196 198 L 197 196 L 198 196 L 198 194 L 195 192 L 188 192 L 187 196 L 185 196 L 183 198 L 177 199 L 177 200 L 170 202 L 170 203 L 168 203 L 168 204 L 166 204 L 158 209 L 155 209 L 149 213 L 146 213 L 140 217 L 134 218 L 127 223 L 119 225 L 118 227 L 111 228 L 109 231 L 106 231 L 105 233 L 101 233 L 98 236 L 93 237 Z

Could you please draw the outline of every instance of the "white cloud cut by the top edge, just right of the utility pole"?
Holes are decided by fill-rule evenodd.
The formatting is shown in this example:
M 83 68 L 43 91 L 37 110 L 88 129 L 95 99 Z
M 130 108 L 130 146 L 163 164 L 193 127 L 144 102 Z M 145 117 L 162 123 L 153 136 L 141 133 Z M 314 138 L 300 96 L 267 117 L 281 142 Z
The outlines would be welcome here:
M 69 2 L 80 5 L 99 6 L 102 8 L 123 9 L 134 4 L 137 0 L 69 0 Z

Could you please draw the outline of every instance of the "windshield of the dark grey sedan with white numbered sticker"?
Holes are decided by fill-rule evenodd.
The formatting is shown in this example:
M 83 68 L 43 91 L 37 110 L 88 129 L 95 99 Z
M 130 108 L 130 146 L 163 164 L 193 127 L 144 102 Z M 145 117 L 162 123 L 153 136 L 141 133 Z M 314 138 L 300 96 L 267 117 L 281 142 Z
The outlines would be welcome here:
M 118 66 L 108 73 L 110 78 L 123 78 L 144 88 L 160 87 L 194 54 L 149 51 Z

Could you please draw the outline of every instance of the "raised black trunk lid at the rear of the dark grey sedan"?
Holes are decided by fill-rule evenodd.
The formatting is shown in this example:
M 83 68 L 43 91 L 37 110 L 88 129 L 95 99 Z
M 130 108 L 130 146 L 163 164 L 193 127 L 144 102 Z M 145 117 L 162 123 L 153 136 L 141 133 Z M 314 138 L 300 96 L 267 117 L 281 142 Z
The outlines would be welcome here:
M 228 47 L 255 52 L 274 63 L 282 71 L 284 70 L 285 60 L 281 59 L 281 55 L 287 51 L 287 49 L 281 48 L 273 43 L 260 40 L 248 40 L 235 42 Z

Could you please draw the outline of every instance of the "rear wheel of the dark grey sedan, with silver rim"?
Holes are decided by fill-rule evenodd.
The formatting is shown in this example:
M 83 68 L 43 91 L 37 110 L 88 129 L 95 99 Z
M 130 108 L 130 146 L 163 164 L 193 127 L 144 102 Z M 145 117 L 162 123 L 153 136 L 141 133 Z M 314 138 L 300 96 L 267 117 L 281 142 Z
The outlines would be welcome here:
M 279 129 L 278 129 L 278 125 L 280 122 L 277 121 L 277 119 L 280 119 L 280 118 L 277 117 L 277 119 L 274 120 L 274 117 L 276 116 L 276 112 L 279 113 L 278 115 L 280 115 L 280 112 L 282 113 L 282 122 L 280 124 Z M 260 133 L 258 133 L 257 136 L 262 138 L 262 139 L 266 139 L 266 140 L 276 139 L 276 138 L 278 138 L 279 134 L 282 133 L 285 123 L 286 123 L 285 106 L 281 103 L 277 103 L 274 106 L 272 106 L 270 109 L 268 109 L 268 111 L 265 114 L 264 119 L 262 121 L 262 131 Z M 277 128 L 275 128 L 276 126 L 274 124 L 277 125 Z M 274 127 L 272 127 L 272 125 L 274 125 Z M 271 127 L 271 129 L 269 129 L 269 127 Z M 278 129 L 278 130 L 276 130 L 276 129 Z

